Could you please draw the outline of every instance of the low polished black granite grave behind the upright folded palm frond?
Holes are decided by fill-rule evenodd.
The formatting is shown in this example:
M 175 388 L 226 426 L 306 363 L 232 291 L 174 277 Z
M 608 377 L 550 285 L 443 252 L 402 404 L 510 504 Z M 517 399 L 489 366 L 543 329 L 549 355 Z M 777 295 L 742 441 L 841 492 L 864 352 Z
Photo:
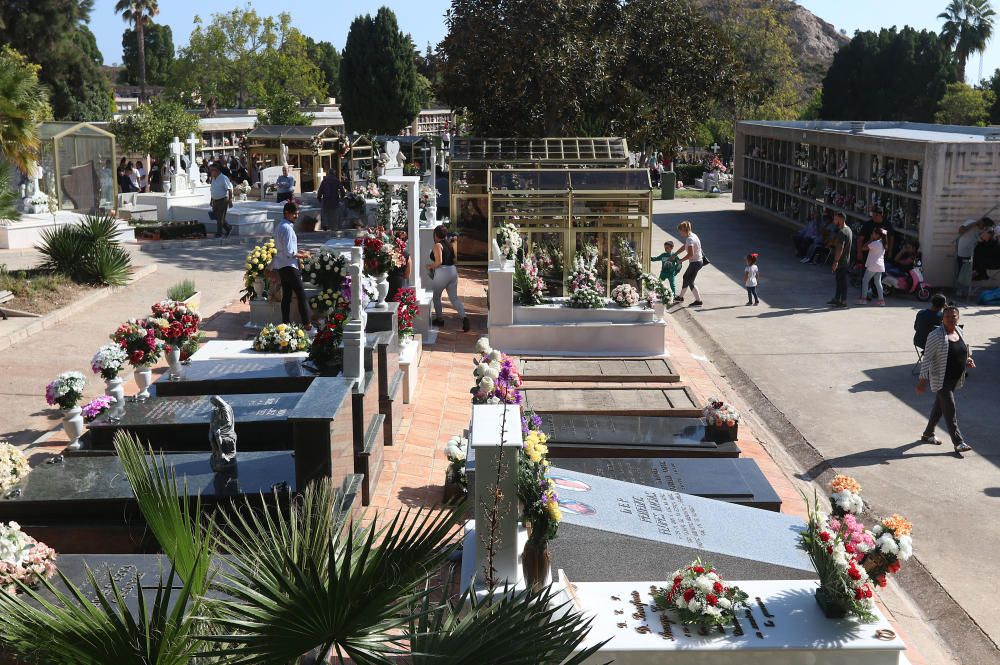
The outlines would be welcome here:
M 0 497 L 0 522 L 18 522 L 59 553 L 157 551 L 118 457 L 60 459 L 35 467 Z M 234 500 L 275 505 L 300 487 L 291 452 L 240 453 L 235 471 L 225 474 L 211 470 L 207 453 L 166 460 L 178 487 L 200 494 L 209 511 Z

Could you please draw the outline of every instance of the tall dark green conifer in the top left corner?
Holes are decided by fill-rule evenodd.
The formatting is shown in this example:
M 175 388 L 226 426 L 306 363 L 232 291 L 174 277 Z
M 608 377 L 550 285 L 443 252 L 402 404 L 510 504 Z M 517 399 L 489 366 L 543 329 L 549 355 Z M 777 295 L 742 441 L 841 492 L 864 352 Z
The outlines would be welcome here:
M 111 87 L 98 68 L 100 52 L 86 27 L 91 8 L 91 0 L 0 2 L 0 43 L 41 65 L 38 78 L 49 89 L 57 120 L 108 120 L 114 111 Z

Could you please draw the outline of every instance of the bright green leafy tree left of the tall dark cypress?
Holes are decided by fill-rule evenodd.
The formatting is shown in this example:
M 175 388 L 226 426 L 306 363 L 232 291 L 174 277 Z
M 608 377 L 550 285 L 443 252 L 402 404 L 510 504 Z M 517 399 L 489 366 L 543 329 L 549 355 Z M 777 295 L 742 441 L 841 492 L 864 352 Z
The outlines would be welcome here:
M 186 104 L 214 99 L 240 108 L 278 88 L 303 101 L 322 96 L 323 74 L 291 22 L 288 13 L 275 19 L 250 8 L 213 14 L 207 25 L 195 16 L 174 67 L 172 96 Z

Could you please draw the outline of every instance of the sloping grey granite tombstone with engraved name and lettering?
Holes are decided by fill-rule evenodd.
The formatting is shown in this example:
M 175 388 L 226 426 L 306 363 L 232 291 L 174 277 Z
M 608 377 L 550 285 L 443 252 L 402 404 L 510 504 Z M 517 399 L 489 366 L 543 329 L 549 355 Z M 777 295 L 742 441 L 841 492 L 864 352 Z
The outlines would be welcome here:
M 552 568 L 571 580 L 664 579 L 695 558 L 729 579 L 806 579 L 805 525 L 790 515 L 560 469 Z

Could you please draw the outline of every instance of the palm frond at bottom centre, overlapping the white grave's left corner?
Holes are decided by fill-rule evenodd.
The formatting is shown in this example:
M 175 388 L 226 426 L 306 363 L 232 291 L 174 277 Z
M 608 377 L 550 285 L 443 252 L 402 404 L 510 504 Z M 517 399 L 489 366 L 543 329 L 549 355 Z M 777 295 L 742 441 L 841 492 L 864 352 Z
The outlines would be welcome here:
M 537 593 L 497 589 L 482 599 L 470 588 L 454 606 L 445 600 L 433 609 L 425 597 L 410 622 L 410 663 L 583 663 L 608 640 L 574 653 L 590 632 L 592 619 L 568 602 L 557 602 L 548 588 Z

